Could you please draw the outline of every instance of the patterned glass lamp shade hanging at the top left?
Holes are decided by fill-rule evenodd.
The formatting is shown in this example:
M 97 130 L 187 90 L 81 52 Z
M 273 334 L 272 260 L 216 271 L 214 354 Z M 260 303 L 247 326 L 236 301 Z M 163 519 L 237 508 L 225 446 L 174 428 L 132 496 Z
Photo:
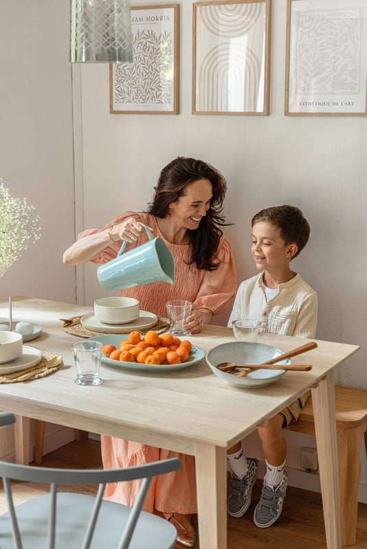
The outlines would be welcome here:
M 132 62 L 130 0 L 71 0 L 70 60 Z

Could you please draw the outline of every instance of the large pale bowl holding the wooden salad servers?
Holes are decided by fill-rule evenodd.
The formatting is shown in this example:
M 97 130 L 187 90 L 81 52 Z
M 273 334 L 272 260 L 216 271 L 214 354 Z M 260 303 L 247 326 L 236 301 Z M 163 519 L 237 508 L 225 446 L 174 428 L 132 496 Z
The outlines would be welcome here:
M 211 371 L 225 382 L 243 388 L 258 388 L 275 382 L 285 370 L 254 370 L 247 377 L 237 377 L 234 374 L 223 372 L 216 368 L 221 362 L 236 362 L 236 364 L 261 364 L 271 358 L 283 354 L 283 351 L 276 347 L 270 347 L 263 343 L 249 343 L 245 341 L 234 341 L 222 343 L 214 347 L 206 354 L 206 362 Z M 291 364 L 288 359 L 282 360 L 279 364 Z

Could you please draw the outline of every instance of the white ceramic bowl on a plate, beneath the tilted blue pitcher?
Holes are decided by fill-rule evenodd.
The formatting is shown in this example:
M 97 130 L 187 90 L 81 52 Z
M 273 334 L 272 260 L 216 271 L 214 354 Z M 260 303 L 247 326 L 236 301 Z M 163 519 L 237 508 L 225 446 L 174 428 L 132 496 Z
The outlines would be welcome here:
M 94 302 L 94 315 L 106 324 L 127 324 L 139 313 L 139 301 L 133 297 L 102 297 Z

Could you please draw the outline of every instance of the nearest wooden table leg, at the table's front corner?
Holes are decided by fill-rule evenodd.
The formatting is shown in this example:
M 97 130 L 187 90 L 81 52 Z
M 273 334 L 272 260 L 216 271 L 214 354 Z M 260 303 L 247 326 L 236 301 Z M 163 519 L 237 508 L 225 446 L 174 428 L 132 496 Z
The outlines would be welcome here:
M 195 467 L 200 549 L 227 549 L 225 448 L 197 443 Z

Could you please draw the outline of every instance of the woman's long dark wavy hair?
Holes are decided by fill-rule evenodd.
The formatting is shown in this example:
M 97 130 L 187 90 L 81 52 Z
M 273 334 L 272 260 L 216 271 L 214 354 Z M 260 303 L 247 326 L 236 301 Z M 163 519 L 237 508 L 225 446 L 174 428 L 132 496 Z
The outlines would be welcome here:
M 199 229 L 188 230 L 192 246 L 190 264 L 196 264 L 199 269 L 215 270 L 219 266 L 215 254 L 223 235 L 220 226 L 225 225 L 222 211 L 227 190 L 225 178 L 218 170 L 202 160 L 177 156 L 160 173 L 153 202 L 148 205 L 148 213 L 157 218 L 166 218 L 170 204 L 186 194 L 187 185 L 200 179 L 210 180 L 213 196 L 210 208 L 205 217 L 201 218 Z

